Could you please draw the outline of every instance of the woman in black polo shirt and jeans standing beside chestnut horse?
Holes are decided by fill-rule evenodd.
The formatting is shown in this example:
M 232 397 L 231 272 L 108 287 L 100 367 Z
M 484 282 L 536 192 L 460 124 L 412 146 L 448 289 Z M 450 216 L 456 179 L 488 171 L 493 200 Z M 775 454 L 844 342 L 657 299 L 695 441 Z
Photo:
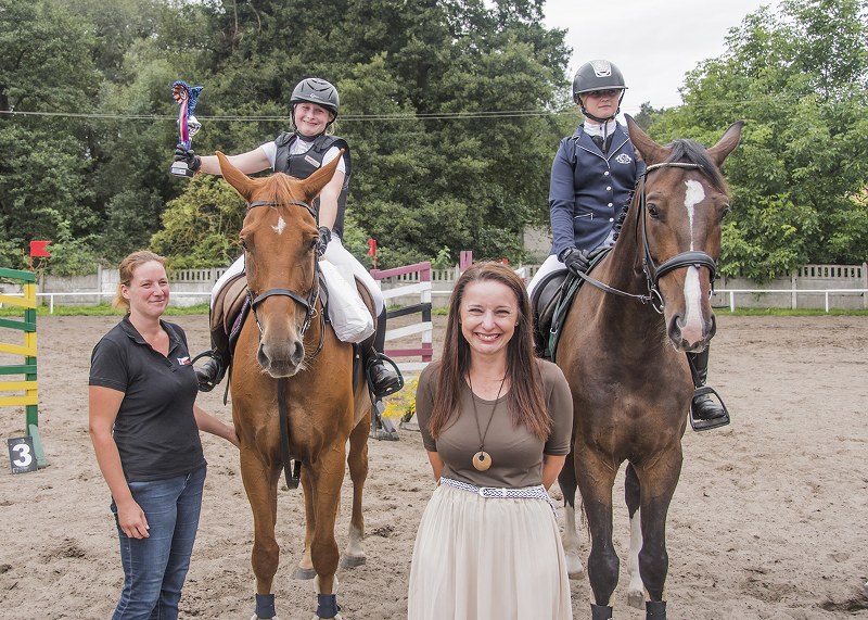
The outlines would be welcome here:
M 195 405 L 187 337 L 161 320 L 168 302 L 162 256 L 124 258 L 115 305 L 128 313 L 91 356 L 90 436 L 124 565 L 115 620 L 178 617 L 205 482 L 199 431 L 239 444 L 233 427 Z

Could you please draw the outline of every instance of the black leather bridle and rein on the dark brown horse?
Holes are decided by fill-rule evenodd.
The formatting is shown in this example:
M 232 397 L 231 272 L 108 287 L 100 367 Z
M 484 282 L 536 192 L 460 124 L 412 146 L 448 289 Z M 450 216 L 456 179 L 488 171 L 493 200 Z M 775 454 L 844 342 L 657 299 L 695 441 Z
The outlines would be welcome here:
M 653 256 L 651 256 L 651 248 L 648 244 L 648 230 L 646 227 L 646 213 L 648 212 L 648 206 L 646 204 L 646 181 L 648 179 L 648 173 L 655 170 L 658 168 L 664 167 L 673 167 L 673 168 L 690 168 L 690 169 L 698 169 L 702 170 L 702 166 L 700 164 L 690 164 L 686 162 L 663 162 L 660 164 L 653 164 L 648 166 L 644 172 L 640 175 L 640 186 L 641 191 L 639 192 L 639 207 L 636 210 L 636 218 L 639 228 L 642 232 L 642 251 L 644 256 L 642 256 L 642 271 L 644 273 L 646 283 L 648 286 L 648 294 L 647 295 L 637 295 L 634 293 L 628 293 L 626 291 L 622 291 L 610 287 L 609 284 L 601 282 L 595 278 L 591 278 L 587 274 L 579 273 L 578 277 L 585 280 L 586 282 L 601 289 L 608 293 L 614 293 L 617 295 L 622 295 L 625 298 L 633 298 L 642 304 L 649 304 L 658 314 L 663 314 L 663 295 L 660 294 L 660 289 L 658 284 L 660 283 L 660 279 L 673 271 L 675 269 L 680 269 L 681 267 L 707 267 L 709 271 L 711 271 L 711 283 L 712 283 L 712 292 L 714 292 L 714 278 L 717 274 L 717 263 L 705 252 L 699 251 L 688 251 L 688 252 L 680 252 L 675 256 L 667 258 L 660 265 L 654 262 Z

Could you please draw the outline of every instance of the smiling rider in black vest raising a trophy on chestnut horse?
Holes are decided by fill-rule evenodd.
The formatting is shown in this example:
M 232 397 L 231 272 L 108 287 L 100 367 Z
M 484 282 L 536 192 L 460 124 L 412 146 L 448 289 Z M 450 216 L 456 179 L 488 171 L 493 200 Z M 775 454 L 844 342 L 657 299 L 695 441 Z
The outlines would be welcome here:
M 346 194 L 352 175 L 349 144 L 337 136 L 328 134 L 340 110 L 337 89 L 324 79 L 309 77 L 299 81 L 290 98 L 293 130 L 283 132 L 272 141 L 241 153 L 230 155 L 229 161 L 244 174 L 265 169 L 285 173 L 296 178 L 307 178 L 321 166 L 341 156 L 341 163 L 332 180 L 323 188 L 315 206 L 319 212 L 320 252 L 336 267 L 337 271 L 355 290 L 355 279 L 361 281 L 371 295 L 378 315 L 376 331 L 365 341 L 362 347 L 367 358 L 366 368 L 371 389 L 382 397 L 399 390 L 404 381 L 397 368 L 383 355 L 385 341 L 386 309 L 383 295 L 368 270 L 341 242 L 344 231 Z M 184 164 L 192 174 L 220 174 L 216 155 L 200 156 L 189 144 L 179 143 L 175 150 L 176 164 Z M 239 257 L 212 291 L 212 300 L 233 276 L 244 270 L 244 257 Z M 337 326 L 335 326 L 337 327 Z M 222 340 L 222 339 L 220 339 Z M 212 390 L 220 382 L 229 364 L 228 339 L 213 339 L 210 357 L 196 369 L 200 390 Z

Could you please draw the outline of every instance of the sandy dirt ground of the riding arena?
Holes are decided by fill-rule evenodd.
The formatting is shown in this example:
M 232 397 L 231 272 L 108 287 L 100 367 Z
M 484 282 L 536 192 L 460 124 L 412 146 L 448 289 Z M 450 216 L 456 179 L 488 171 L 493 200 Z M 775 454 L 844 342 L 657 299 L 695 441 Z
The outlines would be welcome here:
M 107 488 L 87 432 L 87 378 L 93 344 L 116 320 L 39 318 L 39 415 L 49 467 L 0 476 L 0 618 L 107 618 L 114 608 L 123 573 Z M 187 330 L 193 351 L 204 349 L 204 316 L 171 320 Z M 437 336 L 442 326 L 437 317 Z M 868 318 L 723 316 L 718 326 L 711 379 L 733 422 L 701 434 L 688 430 L 684 440 L 685 467 L 669 511 L 669 617 L 868 618 Z M 200 403 L 230 420 L 221 396 L 205 394 Z M 7 438 L 24 434 L 23 410 L 0 414 Z M 246 620 L 254 609 L 252 519 L 238 455 L 210 435 L 203 443 L 209 470 L 182 617 Z M 417 432 L 401 430 L 397 442 L 373 440 L 370 448 L 368 564 L 339 573 L 347 620 L 406 617 L 413 537 L 433 490 Z M 348 491 L 347 477 L 342 547 Z M 623 496 L 623 481 L 615 493 Z M 279 493 L 282 620 L 310 620 L 316 608 L 311 583 L 291 579 L 303 544 L 299 494 Z M 560 499 L 557 485 L 551 494 Z M 628 528 L 618 505 L 615 617 L 644 618 L 626 606 Z M 576 618 L 588 618 L 587 581 L 574 581 L 572 592 Z

